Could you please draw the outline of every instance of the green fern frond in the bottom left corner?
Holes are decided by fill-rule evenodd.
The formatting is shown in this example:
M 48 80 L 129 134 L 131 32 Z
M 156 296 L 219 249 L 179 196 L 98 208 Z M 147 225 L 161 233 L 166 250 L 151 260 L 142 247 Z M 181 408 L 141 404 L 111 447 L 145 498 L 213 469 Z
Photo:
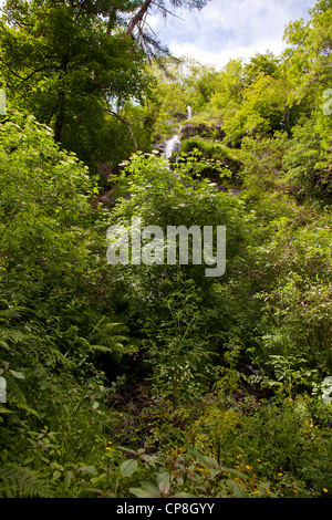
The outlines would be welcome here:
M 43 475 L 13 464 L 4 464 L 0 467 L 0 497 L 52 498 L 53 496 Z

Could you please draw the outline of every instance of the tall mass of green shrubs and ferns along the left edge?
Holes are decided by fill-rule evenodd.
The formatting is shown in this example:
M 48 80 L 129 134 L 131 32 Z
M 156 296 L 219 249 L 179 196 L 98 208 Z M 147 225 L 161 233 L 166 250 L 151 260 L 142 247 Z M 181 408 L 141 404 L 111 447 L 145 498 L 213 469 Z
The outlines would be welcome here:
M 1 450 L 8 470 L 1 489 L 49 496 L 61 477 L 74 489 L 71 465 L 93 464 L 97 438 L 96 450 L 104 453 L 108 418 L 98 352 L 115 365 L 136 347 L 103 299 L 92 295 L 102 272 L 95 229 L 103 225 L 89 204 L 95 187 L 86 167 L 31 116 L 7 116 L 0 139 Z

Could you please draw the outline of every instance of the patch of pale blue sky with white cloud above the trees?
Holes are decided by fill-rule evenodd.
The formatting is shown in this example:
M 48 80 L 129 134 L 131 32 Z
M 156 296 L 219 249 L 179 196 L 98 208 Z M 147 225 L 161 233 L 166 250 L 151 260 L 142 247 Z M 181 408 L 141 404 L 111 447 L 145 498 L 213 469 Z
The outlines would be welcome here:
M 176 56 L 221 69 L 230 59 L 257 52 L 281 54 L 286 25 L 309 19 L 315 0 L 210 0 L 201 11 L 179 11 L 181 19 L 151 15 L 147 21 Z

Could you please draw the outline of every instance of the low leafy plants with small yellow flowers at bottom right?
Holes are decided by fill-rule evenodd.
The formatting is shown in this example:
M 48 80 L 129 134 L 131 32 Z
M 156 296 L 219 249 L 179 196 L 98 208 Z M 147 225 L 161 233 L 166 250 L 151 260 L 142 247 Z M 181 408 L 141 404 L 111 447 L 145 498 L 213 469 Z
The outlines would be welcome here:
M 132 457 L 123 464 L 129 477 L 125 493 L 137 498 L 321 497 L 331 486 L 331 435 L 312 423 L 312 404 L 299 397 L 269 406 L 246 398 L 222 410 L 210 403 L 191 426 L 199 447 L 172 444 L 153 454 L 125 449 Z M 215 443 L 221 443 L 220 461 L 211 454 Z

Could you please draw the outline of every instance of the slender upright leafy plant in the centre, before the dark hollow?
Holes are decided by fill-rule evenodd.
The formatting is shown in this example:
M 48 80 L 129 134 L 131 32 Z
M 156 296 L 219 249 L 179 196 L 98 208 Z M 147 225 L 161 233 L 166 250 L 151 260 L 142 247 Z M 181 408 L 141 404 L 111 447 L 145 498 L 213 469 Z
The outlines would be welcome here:
M 191 285 L 191 288 L 190 288 Z M 147 324 L 147 363 L 153 370 L 152 392 L 157 399 L 178 402 L 201 399 L 212 375 L 212 353 L 208 339 L 201 339 L 205 323 L 201 299 L 189 282 L 165 299 L 164 320 Z

